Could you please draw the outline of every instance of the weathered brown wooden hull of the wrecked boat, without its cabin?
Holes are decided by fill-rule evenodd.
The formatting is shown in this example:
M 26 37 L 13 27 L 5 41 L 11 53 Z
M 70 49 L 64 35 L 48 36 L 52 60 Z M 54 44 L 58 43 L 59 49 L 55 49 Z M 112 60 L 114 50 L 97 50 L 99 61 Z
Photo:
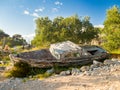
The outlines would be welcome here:
M 24 52 L 18 55 L 10 54 L 9 57 L 13 64 L 16 62 L 27 62 L 33 67 L 46 68 L 58 66 L 75 66 L 92 63 L 93 60 L 101 60 L 105 57 L 97 56 L 81 56 L 74 58 L 55 59 L 49 50 L 43 49 L 38 51 Z

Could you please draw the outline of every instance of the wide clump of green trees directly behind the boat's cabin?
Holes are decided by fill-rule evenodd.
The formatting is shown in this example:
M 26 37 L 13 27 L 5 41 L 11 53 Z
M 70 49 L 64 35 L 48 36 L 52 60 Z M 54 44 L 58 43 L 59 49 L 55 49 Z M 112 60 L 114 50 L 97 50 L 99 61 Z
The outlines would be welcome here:
M 49 46 L 51 43 L 70 40 L 75 43 L 90 42 L 97 32 L 90 23 L 90 18 L 82 20 L 77 16 L 56 17 L 50 20 L 41 17 L 36 20 L 36 35 L 32 44 L 35 46 Z

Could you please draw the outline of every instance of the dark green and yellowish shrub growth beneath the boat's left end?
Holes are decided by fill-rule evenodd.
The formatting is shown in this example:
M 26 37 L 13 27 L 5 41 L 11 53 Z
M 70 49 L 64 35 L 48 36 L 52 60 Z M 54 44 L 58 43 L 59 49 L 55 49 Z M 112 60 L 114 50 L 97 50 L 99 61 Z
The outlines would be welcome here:
M 28 77 L 33 78 L 47 78 L 52 75 L 52 73 L 47 73 L 46 71 L 50 68 L 37 68 L 31 67 L 25 62 L 16 63 L 13 68 L 5 72 L 6 77 Z

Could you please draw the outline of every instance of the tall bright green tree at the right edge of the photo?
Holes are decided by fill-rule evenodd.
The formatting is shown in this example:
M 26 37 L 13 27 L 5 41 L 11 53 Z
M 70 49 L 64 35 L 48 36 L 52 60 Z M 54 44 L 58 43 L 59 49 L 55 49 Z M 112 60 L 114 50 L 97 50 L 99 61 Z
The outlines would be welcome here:
M 104 41 L 103 46 L 107 50 L 120 48 L 120 8 L 118 6 L 107 10 L 104 21 Z

